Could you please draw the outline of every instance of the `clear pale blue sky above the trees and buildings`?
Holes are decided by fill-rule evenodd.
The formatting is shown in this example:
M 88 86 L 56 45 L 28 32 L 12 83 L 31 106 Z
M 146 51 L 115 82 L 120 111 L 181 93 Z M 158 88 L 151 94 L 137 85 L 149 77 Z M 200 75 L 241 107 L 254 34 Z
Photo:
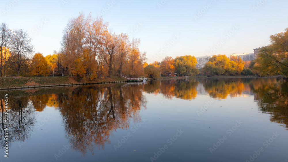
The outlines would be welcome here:
M 123 32 L 131 38 L 140 38 L 140 49 L 147 52 L 148 63 L 161 61 L 165 56 L 253 53 L 253 49 L 269 43 L 270 35 L 288 27 L 287 0 L 2 0 L 1 3 L 0 21 L 6 22 L 10 29 L 28 31 L 35 52 L 44 56 L 60 49 L 68 19 L 81 11 L 86 15 L 91 12 L 94 17 L 102 13 L 116 34 Z

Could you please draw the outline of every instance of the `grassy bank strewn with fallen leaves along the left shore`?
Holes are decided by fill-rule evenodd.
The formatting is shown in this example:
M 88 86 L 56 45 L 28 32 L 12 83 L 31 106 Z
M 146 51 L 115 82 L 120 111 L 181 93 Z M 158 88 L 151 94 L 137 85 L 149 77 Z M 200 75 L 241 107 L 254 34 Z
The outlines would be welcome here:
M 81 83 L 106 82 L 106 81 L 124 81 L 121 77 L 101 77 L 94 81 L 82 79 Z M 21 87 L 26 85 L 52 85 L 80 83 L 74 77 L 0 77 L 0 88 Z

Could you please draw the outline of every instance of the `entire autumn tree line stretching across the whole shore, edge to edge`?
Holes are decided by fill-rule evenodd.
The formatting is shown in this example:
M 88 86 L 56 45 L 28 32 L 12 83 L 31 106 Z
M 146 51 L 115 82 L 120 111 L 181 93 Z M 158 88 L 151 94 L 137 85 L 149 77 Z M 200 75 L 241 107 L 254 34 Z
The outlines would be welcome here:
M 148 76 L 158 78 L 166 73 L 177 76 L 196 75 L 288 75 L 288 28 L 270 36 L 271 44 L 260 49 L 253 61 L 240 57 L 214 55 L 201 69 L 195 56 L 166 56 L 161 62 L 147 64 L 146 52 L 139 49 L 139 38 L 129 39 L 126 33 L 115 34 L 109 22 L 91 13 L 68 20 L 61 49 L 52 55 L 34 54 L 31 38 L 22 29 L 0 26 L 0 76 L 72 75 L 79 80 L 97 77 Z M 34 55 L 33 55 L 34 54 Z

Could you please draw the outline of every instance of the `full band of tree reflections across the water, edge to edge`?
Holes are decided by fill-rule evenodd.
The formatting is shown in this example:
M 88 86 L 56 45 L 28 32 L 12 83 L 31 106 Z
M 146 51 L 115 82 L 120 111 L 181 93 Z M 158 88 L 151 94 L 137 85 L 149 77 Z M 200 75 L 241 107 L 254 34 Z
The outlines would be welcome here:
M 164 98 L 194 100 L 208 94 L 218 100 L 237 96 L 254 96 L 259 111 L 269 113 L 270 121 L 288 130 L 288 83 L 275 78 L 260 79 L 169 79 L 147 84 L 108 84 L 82 87 L 10 91 L 9 144 L 25 142 L 35 129 L 36 115 L 45 107 L 60 111 L 65 136 L 72 149 L 85 156 L 95 148 L 104 149 L 116 129 L 128 129 L 130 121 L 140 122 L 139 112 L 146 109 L 145 93 L 162 94 Z M 18 95 L 20 94 L 21 95 Z M 53 93 L 53 94 L 51 94 Z M 4 100 L 1 104 L 0 141 L 4 140 Z

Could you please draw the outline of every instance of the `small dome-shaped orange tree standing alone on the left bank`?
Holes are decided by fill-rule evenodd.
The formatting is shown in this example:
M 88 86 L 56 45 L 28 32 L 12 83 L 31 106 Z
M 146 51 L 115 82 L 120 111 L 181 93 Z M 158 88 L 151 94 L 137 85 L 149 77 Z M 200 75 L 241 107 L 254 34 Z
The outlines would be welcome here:
M 48 63 L 41 53 L 36 53 L 32 58 L 31 75 L 33 76 L 49 75 Z

